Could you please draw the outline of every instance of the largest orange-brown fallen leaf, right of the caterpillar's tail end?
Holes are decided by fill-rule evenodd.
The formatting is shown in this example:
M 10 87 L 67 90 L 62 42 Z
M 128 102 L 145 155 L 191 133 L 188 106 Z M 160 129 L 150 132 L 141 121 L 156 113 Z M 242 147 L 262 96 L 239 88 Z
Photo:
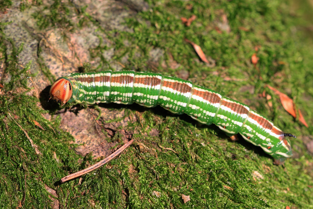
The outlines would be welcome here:
M 297 118 L 296 114 L 296 107 L 293 103 L 293 100 L 285 95 L 284 93 L 281 93 L 277 89 L 275 89 L 272 86 L 266 85 L 270 90 L 274 91 L 275 94 L 277 94 L 280 97 L 280 102 L 285 108 L 285 110 L 292 115 L 294 118 Z M 299 121 L 303 123 L 306 127 L 308 127 L 308 124 L 305 122 L 305 119 L 303 118 L 303 115 L 300 110 L 298 110 L 298 116 L 299 116 Z

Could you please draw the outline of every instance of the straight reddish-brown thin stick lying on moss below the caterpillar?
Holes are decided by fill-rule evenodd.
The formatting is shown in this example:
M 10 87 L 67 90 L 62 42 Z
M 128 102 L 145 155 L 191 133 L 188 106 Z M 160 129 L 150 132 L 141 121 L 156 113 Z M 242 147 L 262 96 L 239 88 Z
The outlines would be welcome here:
M 124 151 L 124 149 L 126 149 L 127 147 L 129 147 L 129 145 L 131 145 L 134 142 L 134 139 L 130 140 L 129 142 L 127 142 L 126 144 L 124 144 L 123 146 L 121 146 L 119 149 L 117 149 L 115 152 L 113 152 L 112 154 L 110 154 L 108 157 L 106 157 L 105 159 L 99 161 L 98 163 L 96 163 L 95 165 L 91 165 L 88 168 L 85 168 L 84 170 L 80 170 L 76 173 L 70 174 L 68 176 L 63 177 L 60 181 L 61 183 L 64 183 L 65 181 L 77 178 L 79 176 L 82 176 L 86 173 L 89 173 L 99 167 L 101 167 L 102 165 L 110 162 L 112 159 L 114 159 L 117 155 L 121 154 L 121 152 Z

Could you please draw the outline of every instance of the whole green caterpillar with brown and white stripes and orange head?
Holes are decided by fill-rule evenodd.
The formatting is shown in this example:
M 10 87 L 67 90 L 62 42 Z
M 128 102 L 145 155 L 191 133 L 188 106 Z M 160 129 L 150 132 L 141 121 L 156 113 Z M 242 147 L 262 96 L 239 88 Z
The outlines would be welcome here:
M 49 93 L 61 106 L 66 102 L 160 105 L 173 113 L 186 113 L 200 123 L 214 123 L 228 136 L 240 133 L 271 155 L 275 164 L 292 156 L 286 137 L 294 135 L 282 132 L 247 105 L 181 78 L 135 71 L 71 73 L 58 78 Z

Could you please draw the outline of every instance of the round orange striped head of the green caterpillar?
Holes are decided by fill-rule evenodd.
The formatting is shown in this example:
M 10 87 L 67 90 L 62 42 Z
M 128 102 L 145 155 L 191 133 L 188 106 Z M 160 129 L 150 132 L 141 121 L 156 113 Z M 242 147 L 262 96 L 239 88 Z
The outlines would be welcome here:
M 50 98 L 60 102 L 62 106 L 72 97 L 73 87 L 68 80 L 60 78 L 59 80 L 54 81 L 49 93 Z

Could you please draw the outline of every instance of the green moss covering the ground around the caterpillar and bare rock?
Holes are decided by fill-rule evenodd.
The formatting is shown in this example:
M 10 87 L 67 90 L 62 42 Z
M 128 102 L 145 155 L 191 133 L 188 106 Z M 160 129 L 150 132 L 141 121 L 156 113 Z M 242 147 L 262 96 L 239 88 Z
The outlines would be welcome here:
M 10 9 L 12 3 L 7 2 Z M 81 65 L 85 71 L 115 70 L 113 60 L 130 70 L 172 76 L 187 73 L 195 84 L 246 103 L 296 135 L 291 139 L 294 157 L 275 166 L 262 149 L 242 139 L 231 142 L 213 125 L 200 125 L 186 115 L 173 115 L 160 107 L 141 111 L 132 105 L 123 117 L 102 122 L 118 123 L 135 115 L 137 120 L 123 128 L 133 133 L 136 142 L 103 168 L 59 184 L 65 175 L 97 160 L 91 153 L 85 157 L 77 154 L 73 149 L 77 145 L 71 144 L 75 139 L 59 128 L 62 114 L 56 116 L 55 111 L 44 110 L 40 97 L 30 94 L 33 88 L 29 88 L 29 77 L 43 74 L 51 80 L 52 73 L 40 56 L 32 74 L 31 63 L 19 64 L 23 45 L 8 38 L 3 28 L 10 23 L 3 22 L 1 208 L 313 207 L 313 160 L 305 146 L 313 139 L 313 42 L 307 27 L 312 24 L 307 21 L 312 19 L 310 5 L 280 1 L 148 1 L 148 9 L 125 19 L 131 30 L 119 31 L 103 27 L 85 6 L 61 1 L 50 3 L 50 7 L 41 4 L 20 5 L 23 11 L 38 7 L 32 13 L 38 30 L 70 32 L 88 25 L 102 33 L 98 46 L 90 49 L 90 62 L 98 60 L 97 66 L 85 62 Z M 182 24 L 181 17 L 193 14 L 197 18 L 190 27 Z M 229 26 L 228 32 L 219 27 L 223 15 L 227 17 L 224 24 Z M 79 19 L 77 24 L 73 16 Z M 63 35 L 66 42 L 67 35 Z M 103 42 L 104 36 L 113 43 L 111 46 Z M 201 62 L 185 38 L 201 46 L 216 66 Z M 257 52 L 256 46 L 260 46 Z M 38 53 L 41 47 L 38 44 Z M 114 53 L 108 60 L 104 52 L 110 48 Z M 158 55 L 160 51 L 162 56 Z M 254 53 L 259 57 L 256 67 L 250 62 Z M 285 112 L 266 84 L 294 99 L 309 128 Z M 259 96 L 264 90 L 272 96 L 269 101 Z M 106 107 L 117 112 L 117 108 L 127 108 Z M 53 115 L 49 120 L 43 117 L 48 113 Z M 121 137 L 113 139 L 119 141 Z M 38 146 L 38 152 L 34 146 Z M 184 203 L 182 195 L 189 195 L 190 201 Z

